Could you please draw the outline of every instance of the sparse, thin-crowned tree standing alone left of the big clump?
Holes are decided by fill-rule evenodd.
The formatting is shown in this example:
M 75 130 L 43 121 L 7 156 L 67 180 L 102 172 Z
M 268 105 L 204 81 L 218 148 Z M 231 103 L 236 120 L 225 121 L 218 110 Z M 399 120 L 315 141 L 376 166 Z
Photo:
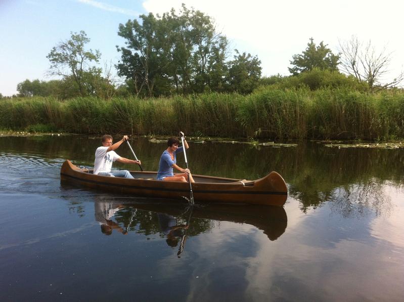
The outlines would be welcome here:
M 101 74 L 100 68 L 89 65 L 93 61 L 98 62 L 101 57 L 98 50 L 85 49 L 89 41 L 84 31 L 71 32 L 70 39 L 61 41 L 47 56 L 51 62 L 50 74 L 73 80 L 81 96 L 92 91 L 88 80 Z

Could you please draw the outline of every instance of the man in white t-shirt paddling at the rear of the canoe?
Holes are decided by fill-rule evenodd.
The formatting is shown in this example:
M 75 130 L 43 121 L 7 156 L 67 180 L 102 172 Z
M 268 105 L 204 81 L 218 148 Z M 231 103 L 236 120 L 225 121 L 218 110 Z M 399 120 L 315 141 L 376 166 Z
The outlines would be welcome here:
M 141 164 L 140 160 L 127 159 L 116 154 L 114 150 L 118 149 L 124 141 L 127 141 L 127 135 L 124 135 L 123 138 L 115 144 L 112 144 L 112 137 L 110 135 L 104 135 L 102 137 L 102 146 L 98 147 L 96 150 L 94 174 L 102 176 L 133 178 L 128 170 L 111 170 L 112 162 L 114 162 L 115 160 L 123 163 L 136 163 L 139 165 Z

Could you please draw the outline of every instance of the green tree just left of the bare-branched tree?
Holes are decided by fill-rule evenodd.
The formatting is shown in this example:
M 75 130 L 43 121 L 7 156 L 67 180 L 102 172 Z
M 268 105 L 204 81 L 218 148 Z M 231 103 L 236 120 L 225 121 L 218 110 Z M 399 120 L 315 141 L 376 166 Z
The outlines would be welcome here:
M 334 55 L 323 41 L 320 42 L 319 46 L 316 46 L 313 38 L 310 38 L 307 48 L 302 54 L 294 55 L 292 58 L 293 60 L 290 61 L 290 64 L 294 65 L 294 67 L 288 67 L 288 69 L 293 75 L 309 71 L 313 68 L 338 71 L 340 59 L 339 55 Z

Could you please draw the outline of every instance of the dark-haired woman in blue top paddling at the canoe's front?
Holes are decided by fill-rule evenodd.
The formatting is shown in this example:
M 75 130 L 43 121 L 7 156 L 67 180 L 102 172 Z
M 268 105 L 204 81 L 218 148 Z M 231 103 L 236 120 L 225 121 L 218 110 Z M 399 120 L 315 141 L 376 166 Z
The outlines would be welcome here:
M 184 147 L 178 147 L 179 141 L 176 138 L 170 138 L 167 141 L 168 148 L 161 154 L 159 169 L 157 172 L 157 180 L 165 182 L 188 182 L 188 177 L 192 183 L 194 179 L 192 178 L 191 171 L 189 169 L 183 169 L 176 165 L 177 158 L 176 154 L 183 152 Z M 189 148 L 187 141 L 184 139 L 184 146 L 186 149 Z M 182 172 L 175 174 L 173 168 Z

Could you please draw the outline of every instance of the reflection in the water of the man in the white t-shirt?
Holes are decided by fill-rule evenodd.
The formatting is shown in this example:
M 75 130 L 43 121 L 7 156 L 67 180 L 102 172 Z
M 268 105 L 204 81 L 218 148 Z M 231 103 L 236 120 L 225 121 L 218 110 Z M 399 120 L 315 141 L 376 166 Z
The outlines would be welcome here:
M 94 212 L 96 221 L 101 225 L 101 232 L 105 235 L 111 235 L 112 230 L 117 230 L 123 235 L 127 234 L 127 231 L 120 227 L 111 218 L 114 214 L 123 206 L 115 202 L 94 202 Z

